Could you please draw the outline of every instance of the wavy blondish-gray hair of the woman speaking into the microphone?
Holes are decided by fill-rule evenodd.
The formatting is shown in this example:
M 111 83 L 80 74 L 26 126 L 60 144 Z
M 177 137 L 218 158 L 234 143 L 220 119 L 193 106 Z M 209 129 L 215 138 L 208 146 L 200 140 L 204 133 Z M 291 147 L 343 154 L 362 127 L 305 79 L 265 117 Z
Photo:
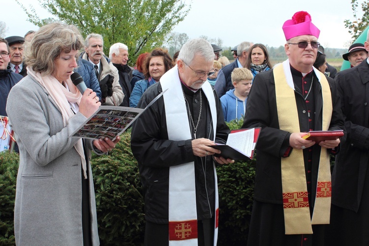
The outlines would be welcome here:
M 25 63 L 33 71 L 47 76 L 54 73 L 54 60 L 62 52 L 69 53 L 83 47 L 84 40 L 75 26 L 51 23 L 36 31 L 31 45 L 26 46 Z

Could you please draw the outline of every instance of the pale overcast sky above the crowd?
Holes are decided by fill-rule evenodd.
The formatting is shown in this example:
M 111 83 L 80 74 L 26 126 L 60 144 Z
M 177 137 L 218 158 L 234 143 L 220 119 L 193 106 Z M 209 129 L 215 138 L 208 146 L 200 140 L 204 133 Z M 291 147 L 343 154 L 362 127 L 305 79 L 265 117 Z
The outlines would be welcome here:
M 27 21 L 27 15 L 15 0 L 6 2 L 0 20 L 6 23 L 6 36 L 23 36 L 38 28 Z M 52 17 L 38 0 L 19 0 L 30 4 L 41 19 Z M 191 3 L 191 0 L 185 0 Z M 307 11 L 312 23 L 320 29 L 319 42 L 324 47 L 347 48 L 350 34 L 345 19 L 353 20 L 351 0 L 193 0 L 184 21 L 173 31 L 185 32 L 190 38 L 206 35 L 221 38 L 223 46 L 234 47 L 243 41 L 279 47 L 285 42 L 282 25 L 297 11 Z M 361 1 L 359 1 L 361 2 Z M 360 9 L 360 6 L 359 6 Z M 359 12 L 359 17 L 360 12 Z M 124 40 L 122 40 L 124 43 Z

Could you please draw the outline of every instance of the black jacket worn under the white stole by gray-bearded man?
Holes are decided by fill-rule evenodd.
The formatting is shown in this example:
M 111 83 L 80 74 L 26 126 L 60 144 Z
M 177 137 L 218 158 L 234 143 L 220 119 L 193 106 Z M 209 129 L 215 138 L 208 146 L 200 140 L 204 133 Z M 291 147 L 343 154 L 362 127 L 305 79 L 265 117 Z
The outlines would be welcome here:
M 142 95 L 138 107 L 146 107 L 160 92 L 162 92 L 160 83 L 149 87 Z M 224 123 L 220 100 L 215 92 L 214 95 L 217 112 L 215 141 L 225 143 L 229 128 Z M 193 100 L 199 101 L 198 98 L 195 98 L 196 96 L 198 96 L 198 93 L 193 95 Z M 205 95 L 203 95 L 203 98 L 205 98 Z M 200 121 L 197 137 L 213 139 L 213 124 L 209 121 L 209 119 L 212 119 L 210 108 L 207 100 L 202 102 L 202 116 L 205 115 L 202 118 L 203 120 Z M 196 119 L 194 120 L 196 121 Z M 184 124 L 186 123 L 189 122 L 184 122 Z M 197 218 L 201 220 L 211 216 L 214 217 L 215 176 L 213 158 L 208 156 L 205 159 L 205 157 L 194 156 L 191 141 L 192 139 L 168 140 L 163 97 L 160 97 L 133 123 L 131 149 L 140 169 L 144 189 L 146 220 L 158 224 L 168 223 L 169 167 L 192 161 L 195 162 Z

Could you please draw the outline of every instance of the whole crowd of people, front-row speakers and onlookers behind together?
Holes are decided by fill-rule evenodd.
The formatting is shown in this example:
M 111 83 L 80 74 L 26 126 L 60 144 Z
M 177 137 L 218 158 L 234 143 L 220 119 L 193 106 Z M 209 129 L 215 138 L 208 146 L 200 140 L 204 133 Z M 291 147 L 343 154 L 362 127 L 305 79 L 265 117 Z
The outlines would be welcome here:
M 369 34 L 337 73 L 304 11 L 282 26 L 288 59 L 274 67 L 265 45 L 242 42 L 229 62 L 205 39 L 173 58 L 163 48 L 128 65 L 128 47 L 85 40 L 48 24 L 0 38 L 0 115 L 9 117 L 20 163 L 14 209 L 17 245 L 99 245 L 91 152 L 120 141 L 69 138 L 100 105 L 145 108 L 132 126 L 145 201 L 145 246 L 215 246 L 216 165 L 234 163 L 226 122 L 261 127 L 256 145 L 249 246 L 369 245 Z M 87 86 L 79 92 L 70 76 Z M 308 131 L 343 130 L 320 142 Z M 331 175 L 330 155 L 336 156 Z

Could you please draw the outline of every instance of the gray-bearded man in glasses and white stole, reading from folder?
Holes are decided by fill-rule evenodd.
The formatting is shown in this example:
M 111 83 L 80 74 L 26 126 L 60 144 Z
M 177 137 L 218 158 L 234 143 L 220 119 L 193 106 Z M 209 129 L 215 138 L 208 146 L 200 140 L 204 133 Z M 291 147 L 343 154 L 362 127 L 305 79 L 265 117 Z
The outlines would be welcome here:
M 138 103 L 144 108 L 167 90 L 132 127 L 131 149 L 144 189 L 146 246 L 176 240 L 216 245 L 215 162 L 233 160 L 215 157 L 220 152 L 210 147 L 225 143 L 229 133 L 219 98 L 206 82 L 214 74 L 213 62 L 210 43 L 192 39 L 182 47 L 177 65 Z

